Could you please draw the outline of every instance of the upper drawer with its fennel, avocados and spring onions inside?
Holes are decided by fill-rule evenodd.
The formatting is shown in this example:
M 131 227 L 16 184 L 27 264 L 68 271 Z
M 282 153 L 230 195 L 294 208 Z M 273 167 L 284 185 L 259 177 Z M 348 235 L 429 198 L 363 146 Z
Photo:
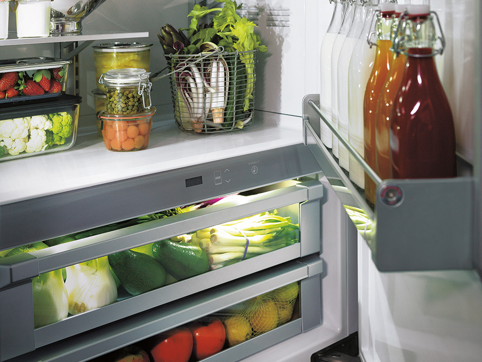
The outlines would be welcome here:
M 289 180 L 111 231 L 44 240 L 51 246 L 43 249 L 13 249 L 0 259 L 0 307 L 9 311 L 0 360 L 319 253 L 322 197 L 318 180 Z M 49 288 L 63 287 L 68 313 L 49 297 Z

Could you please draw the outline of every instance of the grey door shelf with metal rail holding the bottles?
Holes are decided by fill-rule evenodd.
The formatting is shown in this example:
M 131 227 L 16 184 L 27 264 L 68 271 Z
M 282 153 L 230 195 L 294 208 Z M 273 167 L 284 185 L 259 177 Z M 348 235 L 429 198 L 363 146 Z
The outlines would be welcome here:
M 321 115 L 319 95 L 303 99 L 304 139 L 333 190 L 372 249 L 381 272 L 473 268 L 473 188 L 471 176 L 381 180 L 369 205 L 338 161 L 320 140 L 320 119 L 353 157 L 348 141 Z M 362 160 L 363 161 L 363 160 Z M 362 163 L 362 162 L 360 162 Z M 363 161 L 363 163 L 365 163 Z

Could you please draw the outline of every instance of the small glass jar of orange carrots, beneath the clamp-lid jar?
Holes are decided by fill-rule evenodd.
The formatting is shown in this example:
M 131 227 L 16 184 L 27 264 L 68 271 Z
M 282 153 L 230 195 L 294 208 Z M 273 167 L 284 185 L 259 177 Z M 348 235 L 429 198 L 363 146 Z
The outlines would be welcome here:
M 136 115 L 112 115 L 105 110 L 97 117 L 100 121 L 105 148 L 111 151 L 138 151 L 149 144 L 152 117 L 156 108 Z

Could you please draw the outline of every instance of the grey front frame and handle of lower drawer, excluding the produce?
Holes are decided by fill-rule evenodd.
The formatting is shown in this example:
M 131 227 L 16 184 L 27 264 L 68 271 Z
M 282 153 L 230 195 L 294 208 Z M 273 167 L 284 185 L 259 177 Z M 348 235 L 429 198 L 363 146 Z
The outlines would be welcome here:
M 179 303 L 159 306 L 61 340 L 9 361 L 112 362 L 108 359 L 109 353 L 120 348 L 143 345 L 143 341 L 149 338 L 204 316 L 214 315 L 222 319 L 223 311 L 232 310 L 241 302 L 299 282 L 298 304 L 291 320 L 233 346 L 225 345 L 218 353 L 203 359 L 209 362 L 236 361 L 321 324 L 322 272 L 323 260 L 318 255 L 309 255 L 186 297 Z

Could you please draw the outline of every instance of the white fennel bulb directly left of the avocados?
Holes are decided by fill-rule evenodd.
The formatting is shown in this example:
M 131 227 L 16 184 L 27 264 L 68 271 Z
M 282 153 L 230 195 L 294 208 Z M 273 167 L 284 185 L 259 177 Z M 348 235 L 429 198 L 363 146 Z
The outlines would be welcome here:
M 103 307 L 117 299 L 107 256 L 67 266 L 66 271 L 70 314 Z

